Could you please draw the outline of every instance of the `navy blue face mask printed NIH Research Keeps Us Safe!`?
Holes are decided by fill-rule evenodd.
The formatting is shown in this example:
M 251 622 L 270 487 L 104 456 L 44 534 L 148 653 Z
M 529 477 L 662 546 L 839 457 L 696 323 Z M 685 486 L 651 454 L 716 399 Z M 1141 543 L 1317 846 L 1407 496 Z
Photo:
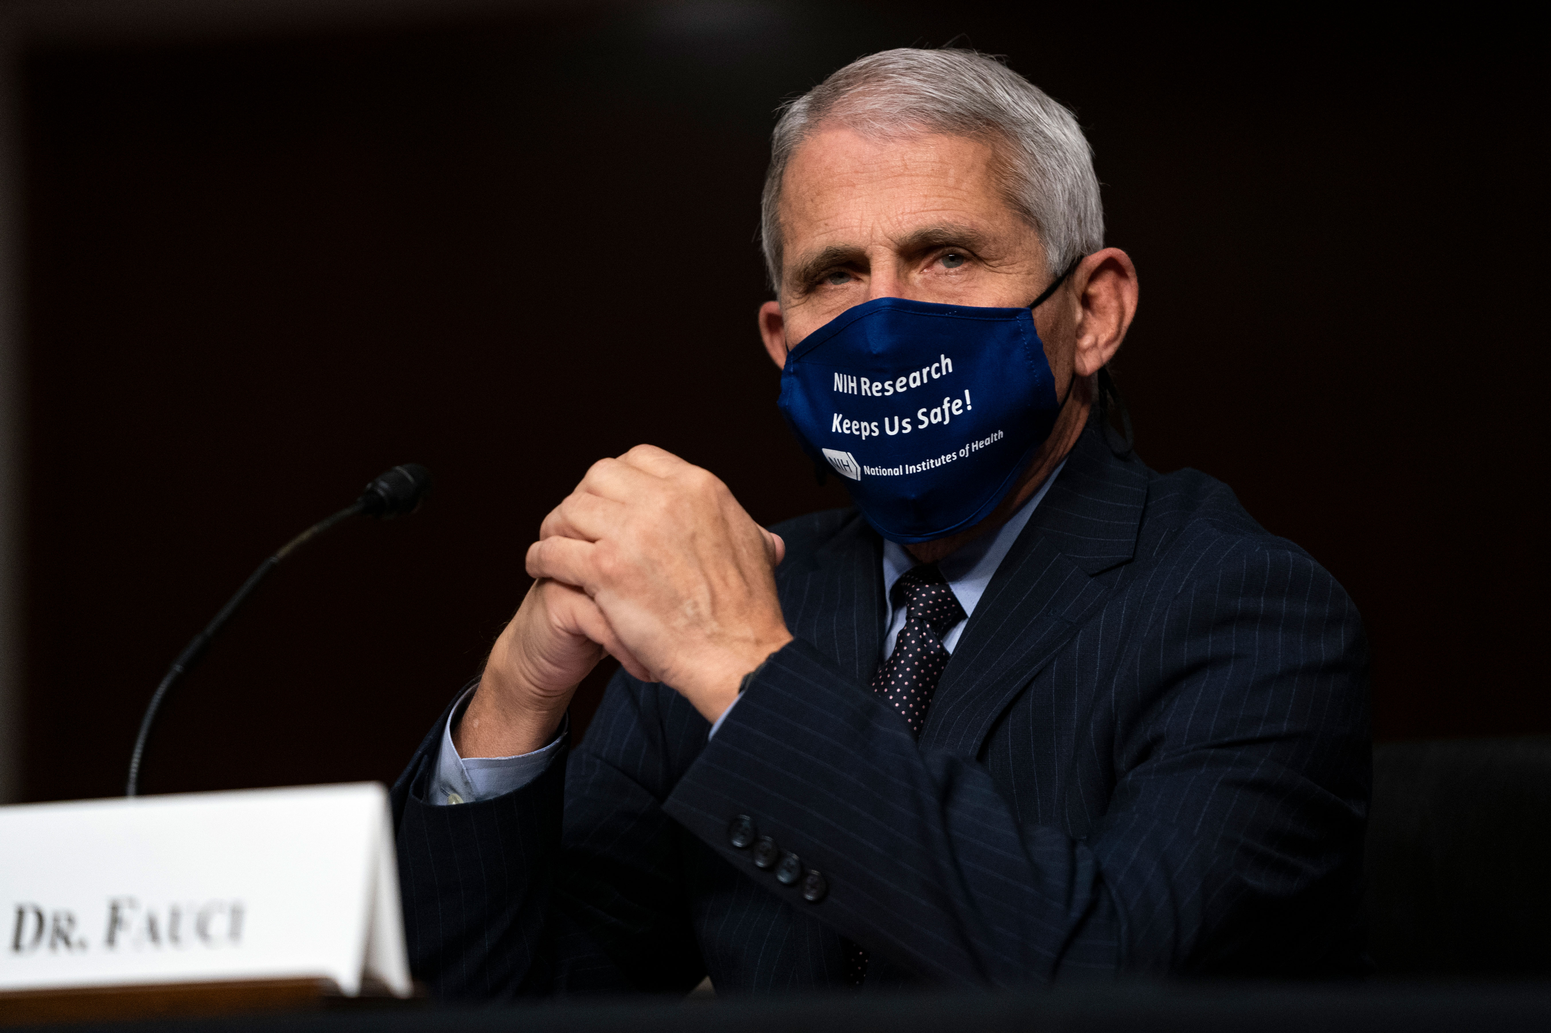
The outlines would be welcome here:
M 1072 268 L 1028 308 L 878 297 L 786 355 L 782 415 L 879 534 L 910 544 L 971 528 L 1028 468 L 1066 404 L 1033 310 Z

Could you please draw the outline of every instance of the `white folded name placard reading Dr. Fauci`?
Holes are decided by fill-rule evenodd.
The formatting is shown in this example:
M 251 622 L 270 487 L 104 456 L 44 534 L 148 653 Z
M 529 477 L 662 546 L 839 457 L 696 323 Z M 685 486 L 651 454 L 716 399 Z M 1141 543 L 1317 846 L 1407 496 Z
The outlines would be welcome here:
M 0 807 L 0 991 L 409 965 L 375 782 Z

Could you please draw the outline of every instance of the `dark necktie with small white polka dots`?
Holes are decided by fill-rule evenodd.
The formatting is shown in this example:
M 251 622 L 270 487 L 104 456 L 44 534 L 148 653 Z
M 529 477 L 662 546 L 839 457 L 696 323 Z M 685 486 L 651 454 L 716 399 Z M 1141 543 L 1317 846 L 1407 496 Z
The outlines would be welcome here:
M 937 564 L 921 564 L 900 575 L 889 592 L 893 609 L 904 607 L 904 627 L 893 652 L 873 675 L 873 692 L 900 711 L 917 736 L 926 726 L 926 708 L 948 666 L 943 637 L 965 619 L 965 609 L 948 587 Z M 845 982 L 861 987 L 867 977 L 867 951 L 845 940 Z

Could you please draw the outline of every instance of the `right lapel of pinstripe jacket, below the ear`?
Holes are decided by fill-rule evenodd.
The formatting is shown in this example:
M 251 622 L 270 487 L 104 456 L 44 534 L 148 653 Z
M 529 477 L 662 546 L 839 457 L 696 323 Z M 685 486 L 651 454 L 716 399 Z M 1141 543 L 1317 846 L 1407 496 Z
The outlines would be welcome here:
M 1135 553 L 1146 468 L 1095 427 L 1072 449 L 997 567 L 932 698 L 921 746 L 974 757 L 1013 698 L 1107 593 L 1095 578 Z

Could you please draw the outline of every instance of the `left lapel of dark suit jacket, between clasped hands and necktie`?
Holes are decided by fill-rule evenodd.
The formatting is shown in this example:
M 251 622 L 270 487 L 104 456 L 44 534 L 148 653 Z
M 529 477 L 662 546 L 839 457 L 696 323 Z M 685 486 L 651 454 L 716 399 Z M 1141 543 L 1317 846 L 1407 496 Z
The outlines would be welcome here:
M 777 578 L 786 627 L 831 657 L 858 685 L 872 681 L 883 644 L 883 539 L 855 513 L 813 553 Z

